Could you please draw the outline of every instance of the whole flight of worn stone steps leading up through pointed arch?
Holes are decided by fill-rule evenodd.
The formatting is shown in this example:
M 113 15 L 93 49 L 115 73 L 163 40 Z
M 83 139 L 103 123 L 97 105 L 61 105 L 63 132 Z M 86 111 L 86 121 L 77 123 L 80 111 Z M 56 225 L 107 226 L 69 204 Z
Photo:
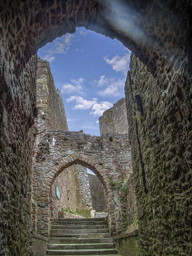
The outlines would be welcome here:
M 119 256 L 105 218 L 51 219 L 47 255 Z

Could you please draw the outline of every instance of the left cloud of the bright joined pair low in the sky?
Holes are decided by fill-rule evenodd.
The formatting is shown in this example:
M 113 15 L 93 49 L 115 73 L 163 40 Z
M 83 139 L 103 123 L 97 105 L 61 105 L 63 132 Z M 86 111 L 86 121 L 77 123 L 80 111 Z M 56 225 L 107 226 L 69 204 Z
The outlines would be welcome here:
M 92 100 L 85 100 L 80 96 L 71 96 L 70 98 L 66 99 L 67 102 L 76 102 L 76 105 L 73 107 L 74 110 L 86 110 L 91 108 L 94 104 L 97 103 L 97 98 L 92 98 Z

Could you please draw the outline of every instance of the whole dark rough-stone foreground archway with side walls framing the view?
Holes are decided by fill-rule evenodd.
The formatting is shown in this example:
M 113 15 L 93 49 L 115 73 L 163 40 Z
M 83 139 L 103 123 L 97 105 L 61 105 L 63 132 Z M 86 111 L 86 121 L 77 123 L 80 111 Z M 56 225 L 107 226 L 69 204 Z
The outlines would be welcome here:
M 117 38 L 146 66 L 138 65 L 140 79 L 131 76 L 126 89 L 129 98 L 136 88 L 127 108 L 134 109 L 128 120 L 143 255 L 191 254 L 191 13 L 190 0 L 1 1 L 0 254 L 27 256 L 31 238 L 37 60 L 30 58 L 78 26 Z M 148 71 L 155 86 L 148 83 Z M 152 207 L 156 202 L 158 209 Z

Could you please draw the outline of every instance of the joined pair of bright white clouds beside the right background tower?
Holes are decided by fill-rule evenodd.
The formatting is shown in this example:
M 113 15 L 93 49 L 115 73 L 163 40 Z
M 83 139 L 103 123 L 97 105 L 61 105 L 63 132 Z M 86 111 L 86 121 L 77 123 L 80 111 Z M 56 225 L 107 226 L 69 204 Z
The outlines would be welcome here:
M 113 104 L 108 101 L 103 101 L 98 103 L 97 98 L 92 98 L 92 100 L 85 100 L 84 98 L 74 95 L 66 99 L 67 102 L 74 101 L 76 105 L 73 107 L 74 110 L 87 110 L 91 108 L 90 115 L 102 116 L 103 112 L 108 108 L 111 108 Z

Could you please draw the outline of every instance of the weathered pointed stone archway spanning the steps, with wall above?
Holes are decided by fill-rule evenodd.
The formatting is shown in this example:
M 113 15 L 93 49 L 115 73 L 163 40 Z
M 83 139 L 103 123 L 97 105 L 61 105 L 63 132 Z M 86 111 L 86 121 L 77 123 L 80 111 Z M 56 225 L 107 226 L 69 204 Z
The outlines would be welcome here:
M 113 136 L 112 142 L 110 137 Z M 86 143 L 85 143 L 86 141 Z M 121 145 L 121 147 L 120 147 Z M 101 180 L 108 198 L 110 229 L 118 234 L 121 222 L 115 218 L 111 181 L 123 180 L 131 171 L 128 135 L 103 134 L 100 137 L 82 132 L 50 132 L 45 134 L 34 164 L 33 200 L 36 202 L 36 230 L 49 236 L 49 194 L 54 179 L 65 169 L 80 164 L 92 170 Z M 123 220 L 122 220 L 123 221 Z

